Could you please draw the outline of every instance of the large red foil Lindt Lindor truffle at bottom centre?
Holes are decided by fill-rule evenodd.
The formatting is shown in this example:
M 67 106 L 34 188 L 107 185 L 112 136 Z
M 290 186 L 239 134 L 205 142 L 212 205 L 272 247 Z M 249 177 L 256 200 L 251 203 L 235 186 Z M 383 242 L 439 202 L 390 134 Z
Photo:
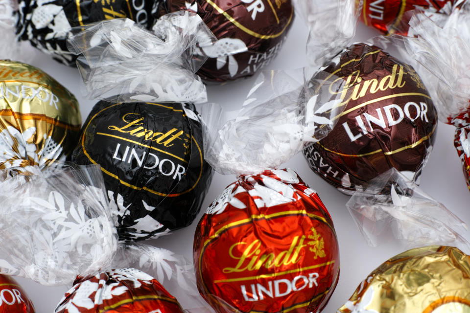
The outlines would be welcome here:
M 194 237 L 199 292 L 219 313 L 319 312 L 339 276 L 328 211 L 289 169 L 242 176 Z

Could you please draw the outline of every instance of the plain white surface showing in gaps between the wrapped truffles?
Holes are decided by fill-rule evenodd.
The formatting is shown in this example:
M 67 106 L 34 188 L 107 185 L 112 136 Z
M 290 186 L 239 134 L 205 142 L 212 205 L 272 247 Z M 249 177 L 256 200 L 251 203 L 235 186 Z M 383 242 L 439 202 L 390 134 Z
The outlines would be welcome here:
M 378 34 L 375 30 L 368 29 L 363 25 L 359 26 L 357 33 L 357 41 Z M 292 69 L 306 66 L 306 38 L 307 28 L 298 17 L 293 23 L 280 54 L 265 69 Z M 75 94 L 80 102 L 82 120 L 84 121 L 96 101 L 86 100 L 82 96 L 78 71 L 53 61 L 39 51 L 30 63 L 46 71 Z M 254 79 L 250 78 L 222 86 L 209 86 L 209 101 L 221 104 L 228 111 L 235 111 L 241 107 Z M 428 86 L 428 88 L 432 87 Z M 454 127 L 439 123 L 434 150 L 423 170 L 421 187 L 467 224 L 470 224 L 468 205 L 470 193 L 462 175 L 461 162 L 453 146 L 453 137 Z M 379 247 L 367 246 L 345 207 L 349 197 L 339 193 L 327 182 L 317 177 L 307 166 L 304 156 L 299 154 L 293 157 L 285 163 L 285 167 L 294 169 L 312 189 L 318 192 L 333 219 L 340 247 L 341 271 L 336 290 L 324 312 L 336 312 L 352 295 L 362 279 L 388 258 L 402 252 L 402 248 L 393 244 Z M 225 186 L 234 180 L 235 176 L 222 176 L 215 173 L 201 211 L 204 212 Z M 171 249 L 192 259 L 194 230 L 202 212 L 195 223 L 189 227 L 149 243 Z M 470 239 L 468 232 L 462 235 Z M 38 313 L 53 312 L 64 292 L 70 287 L 44 287 L 28 279 L 18 278 L 17 280 L 33 301 Z

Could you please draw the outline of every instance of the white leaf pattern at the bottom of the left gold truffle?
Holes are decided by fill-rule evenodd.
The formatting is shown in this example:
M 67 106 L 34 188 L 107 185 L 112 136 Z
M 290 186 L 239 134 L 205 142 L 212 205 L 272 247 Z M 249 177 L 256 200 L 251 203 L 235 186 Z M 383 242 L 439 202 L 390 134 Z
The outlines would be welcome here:
M 50 136 L 44 134 L 43 147 L 38 151 L 38 146 L 33 141 L 36 128 L 30 127 L 20 132 L 13 126 L 8 126 L 0 132 L 0 163 L 5 168 L 21 166 L 26 160 L 29 165 L 43 166 L 50 160 L 65 160 L 62 155 L 62 147 Z

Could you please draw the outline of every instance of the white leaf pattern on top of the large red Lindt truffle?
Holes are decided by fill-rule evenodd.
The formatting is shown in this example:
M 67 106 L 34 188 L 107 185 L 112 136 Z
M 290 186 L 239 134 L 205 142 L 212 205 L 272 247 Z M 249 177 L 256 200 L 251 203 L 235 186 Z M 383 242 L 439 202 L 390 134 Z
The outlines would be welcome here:
M 235 197 L 238 194 L 248 194 L 258 207 L 272 207 L 279 204 L 297 201 L 299 199 L 299 188 L 293 186 L 300 183 L 297 174 L 291 169 L 271 171 L 277 178 L 266 175 L 244 176 L 240 180 L 245 180 L 250 189 L 245 189 L 239 181 L 229 185 L 209 206 L 206 214 L 221 214 L 228 205 L 245 209 L 246 204 Z M 306 196 L 315 193 L 313 189 L 305 188 L 302 191 Z

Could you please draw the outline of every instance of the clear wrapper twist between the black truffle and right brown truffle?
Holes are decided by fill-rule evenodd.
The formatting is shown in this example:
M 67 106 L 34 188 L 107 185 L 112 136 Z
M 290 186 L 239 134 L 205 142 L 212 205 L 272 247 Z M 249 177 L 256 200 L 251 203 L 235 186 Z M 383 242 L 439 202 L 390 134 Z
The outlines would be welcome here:
M 225 175 L 258 174 L 277 169 L 306 144 L 326 136 L 342 107 L 337 94 L 325 92 L 344 81 L 331 75 L 312 92 L 305 88 L 312 72 L 262 72 L 236 118 L 209 130 L 205 157 L 211 166 Z

